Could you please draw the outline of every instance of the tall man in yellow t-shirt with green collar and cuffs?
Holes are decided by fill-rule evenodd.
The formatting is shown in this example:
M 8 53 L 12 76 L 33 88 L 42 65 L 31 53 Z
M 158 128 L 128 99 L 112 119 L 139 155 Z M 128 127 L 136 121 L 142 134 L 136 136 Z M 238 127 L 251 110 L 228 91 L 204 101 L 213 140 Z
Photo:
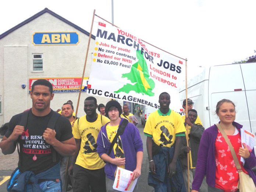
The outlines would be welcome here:
M 144 128 L 149 158 L 148 184 L 155 192 L 186 191 L 178 160 L 186 129 L 181 115 L 169 109 L 170 103 L 170 95 L 161 93 L 160 109 L 149 115 Z

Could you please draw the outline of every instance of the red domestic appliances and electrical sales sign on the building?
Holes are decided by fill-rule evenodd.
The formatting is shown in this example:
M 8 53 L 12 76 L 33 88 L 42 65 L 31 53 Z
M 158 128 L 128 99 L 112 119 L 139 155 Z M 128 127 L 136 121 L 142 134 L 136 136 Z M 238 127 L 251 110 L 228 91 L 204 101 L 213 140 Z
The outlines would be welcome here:
M 79 92 L 81 77 L 57 77 L 57 78 L 29 78 L 29 93 L 31 86 L 38 79 L 46 79 L 53 85 L 53 93 L 74 93 Z M 86 92 L 89 77 L 83 78 L 82 92 Z

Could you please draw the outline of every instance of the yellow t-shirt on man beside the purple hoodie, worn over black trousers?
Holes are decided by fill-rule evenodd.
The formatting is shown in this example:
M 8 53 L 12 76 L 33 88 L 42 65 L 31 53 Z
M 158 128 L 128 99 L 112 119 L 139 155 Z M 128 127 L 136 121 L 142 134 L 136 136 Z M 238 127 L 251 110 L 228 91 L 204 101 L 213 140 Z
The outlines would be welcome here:
M 100 159 L 97 153 L 96 141 L 99 131 L 103 125 L 109 122 L 109 118 L 98 114 L 95 122 L 88 122 L 86 115 L 75 121 L 72 134 L 75 139 L 81 139 L 80 151 L 75 164 L 86 169 L 100 169 L 105 166 L 105 163 Z

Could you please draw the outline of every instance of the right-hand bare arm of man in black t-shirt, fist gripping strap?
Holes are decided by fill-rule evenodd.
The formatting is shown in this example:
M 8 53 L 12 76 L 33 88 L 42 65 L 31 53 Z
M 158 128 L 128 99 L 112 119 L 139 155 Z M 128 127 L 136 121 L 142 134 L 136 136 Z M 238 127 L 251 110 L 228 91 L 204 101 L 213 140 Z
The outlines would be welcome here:
M 51 128 L 47 128 L 43 133 L 43 138 L 45 141 L 53 146 L 53 148 L 61 155 L 61 156 L 72 156 L 75 153 L 76 144 L 74 137 L 66 140 L 66 141 L 58 141 L 55 137 L 56 132 Z

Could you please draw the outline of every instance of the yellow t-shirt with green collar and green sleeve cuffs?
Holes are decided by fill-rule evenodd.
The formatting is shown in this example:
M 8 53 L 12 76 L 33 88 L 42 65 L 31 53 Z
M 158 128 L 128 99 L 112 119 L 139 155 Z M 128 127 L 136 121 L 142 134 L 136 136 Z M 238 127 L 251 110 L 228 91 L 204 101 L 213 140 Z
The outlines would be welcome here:
M 167 114 L 162 114 L 157 110 L 149 115 L 143 132 L 147 136 L 152 136 L 157 145 L 171 147 L 176 135 L 186 132 L 186 129 L 180 114 L 171 110 Z

